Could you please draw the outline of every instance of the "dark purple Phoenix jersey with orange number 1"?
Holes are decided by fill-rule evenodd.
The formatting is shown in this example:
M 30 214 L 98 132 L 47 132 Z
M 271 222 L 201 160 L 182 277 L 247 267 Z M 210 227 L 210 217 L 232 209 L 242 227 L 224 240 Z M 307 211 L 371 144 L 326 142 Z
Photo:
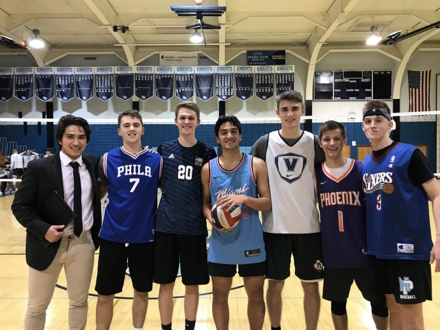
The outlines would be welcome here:
M 315 166 L 326 267 L 368 266 L 362 162 L 350 158 L 347 161 L 350 167 L 340 177 L 331 176 L 324 163 Z

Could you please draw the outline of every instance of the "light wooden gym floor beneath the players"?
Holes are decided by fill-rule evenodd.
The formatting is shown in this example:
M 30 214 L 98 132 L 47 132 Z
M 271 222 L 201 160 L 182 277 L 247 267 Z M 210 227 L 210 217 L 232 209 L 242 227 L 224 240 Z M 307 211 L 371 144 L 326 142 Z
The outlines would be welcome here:
M 13 196 L 0 198 L 0 329 L 15 330 L 23 328 L 23 316 L 27 304 L 27 274 L 25 249 L 25 229 L 15 220 L 10 210 Z M 430 205 L 431 208 L 431 205 Z M 209 225 L 208 225 L 209 227 Z M 432 233 L 435 234 L 435 227 L 432 221 Z M 86 329 L 95 328 L 95 311 L 97 298 L 93 296 L 96 264 L 98 253 L 95 254 L 95 266 L 93 278 L 90 285 L 88 324 Z M 293 263 L 291 273 L 294 273 Z M 438 320 L 440 317 L 440 273 L 432 272 L 433 278 L 433 301 L 424 304 L 425 329 L 438 329 Z M 233 287 L 229 295 L 230 321 L 229 329 L 245 330 L 249 329 L 246 316 L 246 293 L 242 287 L 242 280 L 238 276 L 234 278 Z M 64 272 L 62 271 L 58 285 L 66 286 Z M 320 283 L 320 291 L 322 283 Z M 150 293 L 150 301 L 147 311 L 147 319 L 144 329 L 160 330 L 159 310 L 157 306 L 157 295 L 159 287 L 153 286 Z M 265 290 L 264 290 L 265 292 Z M 184 287 L 180 279 L 176 280 L 174 295 L 174 314 L 173 328 L 184 329 L 183 296 Z M 197 330 L 215 329 L 212 318 L 212 294 L 211 285 L 200 286 L 200 301 L 197 314 Z M 111 329 L 132 329 L 131 306 L 132 286 L 130 277 L 127 276 L 123 292 L 119 297 L 129 299 L 115 299 L 114 316 Z M 306 329 L 303 312 L 303 293 L 300 282 L 295 276 L 286 280 L 286 286 L 283 291 L 283 316 L 281 326 L 283 330 Z M 67 324 L 68 299 L 66 290 L 55 288 L 54 297 L 47 309 L 46 328 L 49 330 L 68 329 Z M 350 298 L 348 299 L 347 311 L 349 316 L 349 328 L 353 330 L 374 329 L 374 323 L 371 318 L 370 305 L 362 298 L 355 285 L 352 286 Z M 270 330 L 269 316 L 266 312 L 264 327 Z M 318 329 L 333 329 L 330 313 L 330 303 L 321 301 L 321 313 L 319 316 Z

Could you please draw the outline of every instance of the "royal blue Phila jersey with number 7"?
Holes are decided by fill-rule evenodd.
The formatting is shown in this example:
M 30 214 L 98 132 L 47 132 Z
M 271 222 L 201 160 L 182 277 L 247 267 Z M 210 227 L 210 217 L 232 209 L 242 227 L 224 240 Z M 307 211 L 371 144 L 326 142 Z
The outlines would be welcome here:
M 131 154 L 123 147 L 103 155 L 100 182 L 107 182 L 108 197 L 99 237 L 121 243 L 154 241 L 154 214 L 162 157 L 148 147 Z

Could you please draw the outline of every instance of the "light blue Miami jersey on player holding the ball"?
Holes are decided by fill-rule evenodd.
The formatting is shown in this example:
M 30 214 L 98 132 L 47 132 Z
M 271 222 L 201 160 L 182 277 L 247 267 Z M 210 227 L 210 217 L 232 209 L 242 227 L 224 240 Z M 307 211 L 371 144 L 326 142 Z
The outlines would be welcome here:
M 240 164 L 226 171 L 219 164 L 219 157 L 209 162 L 209 191 L 211 202 L 225 195 L 242 194 L 257 197 L 257 185 L 252 172 L 252 157 L 243 154 Z M 229 232 L 215 229 L 211 232 L 208 261 L 217 264 L 256 264 L 266 260 L 263 229 L 258 211 L 246 205 L 242 208 L 242 219 Z

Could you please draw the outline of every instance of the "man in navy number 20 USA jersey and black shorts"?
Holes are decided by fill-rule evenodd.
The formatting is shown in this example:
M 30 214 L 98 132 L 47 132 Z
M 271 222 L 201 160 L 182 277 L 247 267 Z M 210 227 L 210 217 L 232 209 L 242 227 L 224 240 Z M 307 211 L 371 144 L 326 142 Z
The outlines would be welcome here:
M 202 166 L 217 156 L 196 139 L 200 110 L 194 102 L 176 106 L 177 140 L 157 149 L 163 158 L 162 197 L 154 229 L 154 283 L 160 284 L 159 313 L 163 330 L 171 330 L 173 288 L 180 262 L 185 285 L 185 330 L 194 330 L 198 286 L 209 283 L 206 219 L 202 213 Z

